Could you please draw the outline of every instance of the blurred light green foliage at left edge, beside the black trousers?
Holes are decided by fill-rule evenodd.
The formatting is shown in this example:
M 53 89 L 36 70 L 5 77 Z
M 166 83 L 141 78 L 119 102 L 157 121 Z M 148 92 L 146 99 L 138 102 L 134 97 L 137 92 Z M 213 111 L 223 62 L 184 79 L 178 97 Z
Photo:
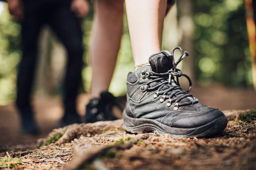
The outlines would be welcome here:
M 1 3 L 1 2 L 0 2 Z M 0 13 L 0 105 L 16 96 L 16 73 L 20 62 L 20 25 L 12 19 L 7 5 Z

